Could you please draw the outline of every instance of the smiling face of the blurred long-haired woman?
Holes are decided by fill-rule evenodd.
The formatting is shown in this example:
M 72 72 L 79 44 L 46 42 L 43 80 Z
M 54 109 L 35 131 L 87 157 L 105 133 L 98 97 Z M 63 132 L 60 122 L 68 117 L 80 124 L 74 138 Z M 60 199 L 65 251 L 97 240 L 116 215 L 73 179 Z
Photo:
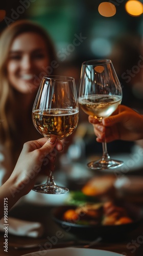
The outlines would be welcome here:
M 50 60 L 43 38 L 34 32 L 18 35 L 12 42 L 7 63 L 8 80 L 20 93 L 37 90 Z M 38 81 L 38 82 L 37 82 Z

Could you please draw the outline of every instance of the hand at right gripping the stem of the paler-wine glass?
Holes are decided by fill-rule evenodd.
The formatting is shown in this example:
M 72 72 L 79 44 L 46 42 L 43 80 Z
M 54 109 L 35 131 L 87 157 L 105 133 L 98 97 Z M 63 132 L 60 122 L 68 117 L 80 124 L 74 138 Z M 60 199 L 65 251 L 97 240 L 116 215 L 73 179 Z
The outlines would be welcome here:
M 143 116 L 125 105 L 119 105 L 110 117 L 103 118 L 102 124 L 93 116 L 88 120 L 93 124 L 98 142 L 143 138 Z

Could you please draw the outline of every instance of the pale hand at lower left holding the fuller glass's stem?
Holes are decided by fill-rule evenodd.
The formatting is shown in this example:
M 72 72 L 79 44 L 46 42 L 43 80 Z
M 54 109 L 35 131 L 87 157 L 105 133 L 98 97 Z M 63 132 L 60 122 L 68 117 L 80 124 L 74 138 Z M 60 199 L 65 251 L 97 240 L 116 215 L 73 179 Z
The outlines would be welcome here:
M 58 151 L 63 150 L 63 145 L 56 136 L 50 139 L 41 138 L 29 141 L 23 145 L 23 149 L 18 158 L 10 180 L 16 189 L 20 189 L 21 196 L 26 195 L 33 188 L 38 173 L 43 168 L 52 169 Z

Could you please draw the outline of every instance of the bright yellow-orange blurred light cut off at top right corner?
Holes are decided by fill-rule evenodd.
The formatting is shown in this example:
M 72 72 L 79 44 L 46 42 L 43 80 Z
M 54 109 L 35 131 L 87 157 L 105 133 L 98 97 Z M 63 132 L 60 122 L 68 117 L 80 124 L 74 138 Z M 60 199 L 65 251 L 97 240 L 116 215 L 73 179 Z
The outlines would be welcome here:
M 125 9 L 131 16 L 140 16 L 143 13 L 143 5 L 137 0 L 129 0 L 125 5 Z

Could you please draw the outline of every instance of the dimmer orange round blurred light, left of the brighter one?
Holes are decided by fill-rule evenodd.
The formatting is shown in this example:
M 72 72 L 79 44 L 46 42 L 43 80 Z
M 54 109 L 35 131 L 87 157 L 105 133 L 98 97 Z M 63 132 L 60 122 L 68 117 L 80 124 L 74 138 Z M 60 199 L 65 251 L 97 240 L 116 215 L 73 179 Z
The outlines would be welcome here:
M 104 17 L 111 17 L 115 15 L 116 8 L 109 2 L 103 2 L 99 5 L 98 11 Z

